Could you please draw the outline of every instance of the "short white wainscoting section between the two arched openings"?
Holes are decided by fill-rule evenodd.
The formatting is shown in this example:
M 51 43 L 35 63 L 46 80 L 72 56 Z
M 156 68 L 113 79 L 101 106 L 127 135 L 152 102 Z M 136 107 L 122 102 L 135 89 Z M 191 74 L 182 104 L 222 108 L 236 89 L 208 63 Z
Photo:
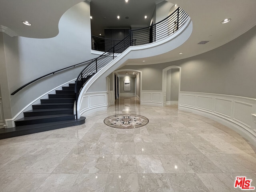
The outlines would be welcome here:
M 162 91 L 142 90 L 141 105 L 162 106 Z

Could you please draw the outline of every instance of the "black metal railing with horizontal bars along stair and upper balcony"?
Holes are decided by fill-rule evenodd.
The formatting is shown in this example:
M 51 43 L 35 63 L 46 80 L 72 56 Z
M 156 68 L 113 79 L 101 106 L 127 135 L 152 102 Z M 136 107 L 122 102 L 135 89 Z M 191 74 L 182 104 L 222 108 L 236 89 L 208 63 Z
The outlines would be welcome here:
M 149 44 L 174 34 L 186 23 L 188 18 L 189 16 L 184 10 L 177 8 L 170 16 L 154 25 L 137 30 L 129 30 L 129 35 L 123 40 L 92 36 L 92 49 L 103 51 L 104 53 L 88 64 L 76 79 L 76 118 L 78 117 L 78 96 L 86 82 L 94 74 L 114 60 L 115 56 L 118 56 L 119 53 L 122 53 L 128 47 Z

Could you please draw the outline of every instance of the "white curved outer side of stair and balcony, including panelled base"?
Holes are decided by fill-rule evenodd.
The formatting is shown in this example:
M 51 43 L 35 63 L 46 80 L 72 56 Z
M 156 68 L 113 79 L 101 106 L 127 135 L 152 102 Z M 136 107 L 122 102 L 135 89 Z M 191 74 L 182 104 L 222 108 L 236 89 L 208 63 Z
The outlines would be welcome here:
M 77 104 L 78 118 L 92 112 L 107 109 L 106 77 L 116 69 L 124 66 L 128 59 L 146 58 L 164 54 L 182 45 L 192 34 L 193 24 L 189 18 L 176 33 L 153 43 L 130 46 L 109 64 L 99 70 L 82 88 Z M 104 89 L 97 90 L 98 87 Z M 93 88 L 94 87 L 94 88 Z

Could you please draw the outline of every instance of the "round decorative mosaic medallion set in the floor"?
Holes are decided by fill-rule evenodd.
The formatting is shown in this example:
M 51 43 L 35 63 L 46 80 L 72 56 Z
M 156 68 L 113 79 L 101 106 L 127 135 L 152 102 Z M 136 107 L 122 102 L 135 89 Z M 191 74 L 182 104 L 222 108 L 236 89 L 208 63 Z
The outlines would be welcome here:
M 107 117 L 104 123 L 114 128 L 130 129 L 148 124 L 148 118 L 136 114 L 116 114 Z

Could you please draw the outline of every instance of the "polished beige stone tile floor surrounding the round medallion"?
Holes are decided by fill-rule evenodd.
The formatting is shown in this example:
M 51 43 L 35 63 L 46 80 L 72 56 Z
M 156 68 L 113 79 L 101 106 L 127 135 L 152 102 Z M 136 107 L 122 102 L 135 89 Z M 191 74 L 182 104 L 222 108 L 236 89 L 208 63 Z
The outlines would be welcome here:
M 125 107 L 121 98 L 80 126 L 0 140 L 0 191 L 230 192 L 240 191 L 236 176 L 256 186 L 256 148 L 236 132 L 176 107 L 125 99 Z M 104 124 L 121 113 L 149 123 Z

